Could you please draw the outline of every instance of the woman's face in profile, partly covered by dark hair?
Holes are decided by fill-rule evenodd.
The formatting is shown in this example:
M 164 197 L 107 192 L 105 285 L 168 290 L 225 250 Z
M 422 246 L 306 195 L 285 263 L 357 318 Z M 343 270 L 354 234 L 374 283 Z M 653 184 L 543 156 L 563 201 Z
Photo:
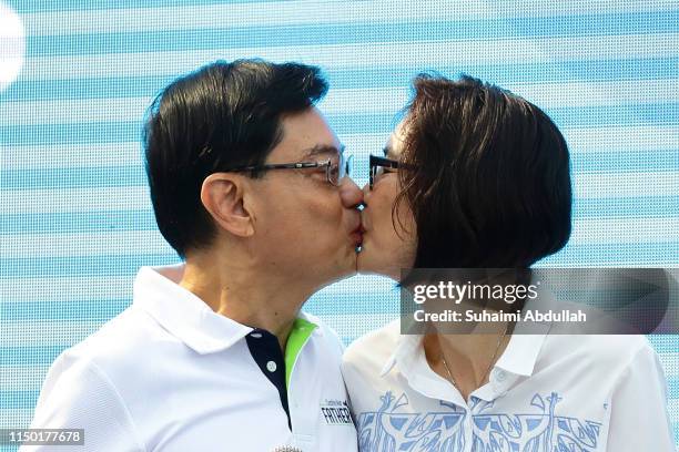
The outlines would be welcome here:
M 385 156 L 398 161 L 403 148 L 404 123 L 399 123 L 385 147 Z M 413 213 L 405 199 L 399 204 L 397 216 L 392 217 L 392 207 L 401 191 L 397 170 L 381 168 L 373 189 L 363 188 L 365 208 L 361 213 L 363 245 L 358 254 L 359 273 L 379 274 L 401 280 L 401 269 L 415 263 L 417 234 Z M 398 220 L 401 219 L 401 222 Z

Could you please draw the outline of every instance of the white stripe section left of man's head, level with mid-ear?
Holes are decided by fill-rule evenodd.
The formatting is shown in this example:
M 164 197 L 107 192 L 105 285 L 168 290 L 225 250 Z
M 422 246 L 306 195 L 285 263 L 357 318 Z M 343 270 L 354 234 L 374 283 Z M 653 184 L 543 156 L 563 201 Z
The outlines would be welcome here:
M 146 185 L 107 188 L 3 191 L 0 214 L 151 209 Z

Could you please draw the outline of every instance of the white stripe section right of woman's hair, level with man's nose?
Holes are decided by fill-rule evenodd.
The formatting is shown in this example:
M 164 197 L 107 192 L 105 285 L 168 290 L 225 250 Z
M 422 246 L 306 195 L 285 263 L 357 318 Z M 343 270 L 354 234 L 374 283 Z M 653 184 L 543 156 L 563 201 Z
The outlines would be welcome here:
M 575 174 L 575 197 L 679 196 L 679 172 Z

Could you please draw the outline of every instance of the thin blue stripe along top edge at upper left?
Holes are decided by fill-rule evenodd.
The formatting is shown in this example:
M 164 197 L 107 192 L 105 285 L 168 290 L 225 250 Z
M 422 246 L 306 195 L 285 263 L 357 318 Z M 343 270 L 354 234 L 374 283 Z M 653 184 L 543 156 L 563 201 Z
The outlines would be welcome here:
M 194 7 L 222 3 L 268 3 L 280 0 L 4 0 L 19 13 L 108 9 Z

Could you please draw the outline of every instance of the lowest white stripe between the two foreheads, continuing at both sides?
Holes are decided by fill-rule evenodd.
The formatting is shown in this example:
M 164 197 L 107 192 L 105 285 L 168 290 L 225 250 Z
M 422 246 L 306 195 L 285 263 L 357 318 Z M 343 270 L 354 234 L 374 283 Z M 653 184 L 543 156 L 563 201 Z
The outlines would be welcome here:
M 396 116 L 395 116 L 396 117 Z M 679 148 L 679 127 L 677 126 L 615 126 L 615 127 L 571 127 L 561 129 L 568 141 L 570 152 L 658 152 Z M 387 133 L 349 134 L 340 136 L 346 152 L 357 158 L 382 154 L 388 138 Z M 2 151 L 0 151 L 2 152 Z M 141 164 L 143 152 L 139 142 L 112 144 L 67 144 L 40 146 L 12 146 L 4 151 L 0 168 L 84 168 L 101 166 L 124 166 Z

